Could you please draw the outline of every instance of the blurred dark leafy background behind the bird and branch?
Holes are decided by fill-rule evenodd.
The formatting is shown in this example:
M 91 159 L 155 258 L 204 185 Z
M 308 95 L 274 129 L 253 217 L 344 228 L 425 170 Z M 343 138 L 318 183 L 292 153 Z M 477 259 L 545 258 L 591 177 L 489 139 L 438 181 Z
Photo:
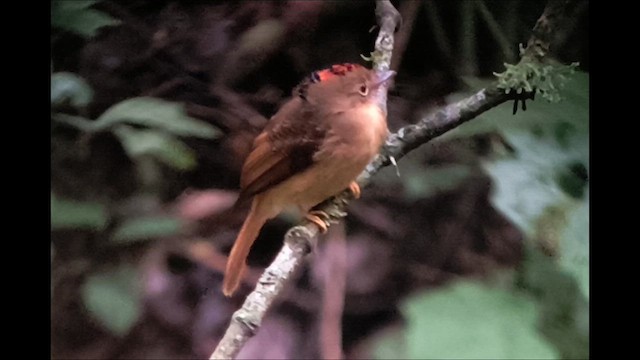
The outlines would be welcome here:
M 545 1 L 393 1 L 389 127 L 481 89 Z M 240 291 L 223 269 L 253 138 L 311 71 L 367 65 L 369 1 L 53 1 L 51 352 L 208 358 L 297 219 L 270 221 Z M 385 168 L 241 358 L 587 358 L 588 4 L 578 62 Z M 399 176 L 397 174 L 399 172 Z

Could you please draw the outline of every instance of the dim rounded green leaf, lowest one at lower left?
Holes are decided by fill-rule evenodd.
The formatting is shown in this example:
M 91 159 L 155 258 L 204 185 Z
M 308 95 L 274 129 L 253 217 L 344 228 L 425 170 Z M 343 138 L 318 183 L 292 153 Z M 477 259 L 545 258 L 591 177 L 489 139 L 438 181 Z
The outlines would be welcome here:
M 116 335 L 125 335 L 140 318 L 138 273 L 131 266 L 89 276 L 81 296 L 91 315 Z

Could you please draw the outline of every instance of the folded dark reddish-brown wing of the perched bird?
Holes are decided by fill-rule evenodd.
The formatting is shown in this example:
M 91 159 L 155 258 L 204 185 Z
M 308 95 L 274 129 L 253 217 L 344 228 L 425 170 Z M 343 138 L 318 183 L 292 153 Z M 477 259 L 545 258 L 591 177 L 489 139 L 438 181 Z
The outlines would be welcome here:
M 327 135 L 325 122 L 308 104 L 293 98 L 275 114 L 253 143 L 242 168 L 238 202 L 264 192 L 314 163 Z

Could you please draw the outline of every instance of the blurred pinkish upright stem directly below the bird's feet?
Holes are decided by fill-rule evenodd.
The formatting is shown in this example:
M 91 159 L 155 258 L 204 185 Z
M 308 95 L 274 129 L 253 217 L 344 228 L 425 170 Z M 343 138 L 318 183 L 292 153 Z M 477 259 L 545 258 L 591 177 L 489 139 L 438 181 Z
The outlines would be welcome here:
M 325 360 L 342 359 L 342 313 L 347 282 L 347 241 L 344 223 L 329 230 L 322 273 L 320 353 Z

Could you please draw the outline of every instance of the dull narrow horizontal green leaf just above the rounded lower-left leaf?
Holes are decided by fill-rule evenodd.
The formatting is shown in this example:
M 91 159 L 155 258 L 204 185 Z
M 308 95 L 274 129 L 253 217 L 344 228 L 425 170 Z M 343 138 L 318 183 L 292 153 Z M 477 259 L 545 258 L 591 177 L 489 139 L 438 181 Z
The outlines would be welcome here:
M 125 221 L 114 231 L 111 239 L 130 243 L 157 237 L 176 235 L 182 229 L 182 221 L 169 216 L 149 216 Z

